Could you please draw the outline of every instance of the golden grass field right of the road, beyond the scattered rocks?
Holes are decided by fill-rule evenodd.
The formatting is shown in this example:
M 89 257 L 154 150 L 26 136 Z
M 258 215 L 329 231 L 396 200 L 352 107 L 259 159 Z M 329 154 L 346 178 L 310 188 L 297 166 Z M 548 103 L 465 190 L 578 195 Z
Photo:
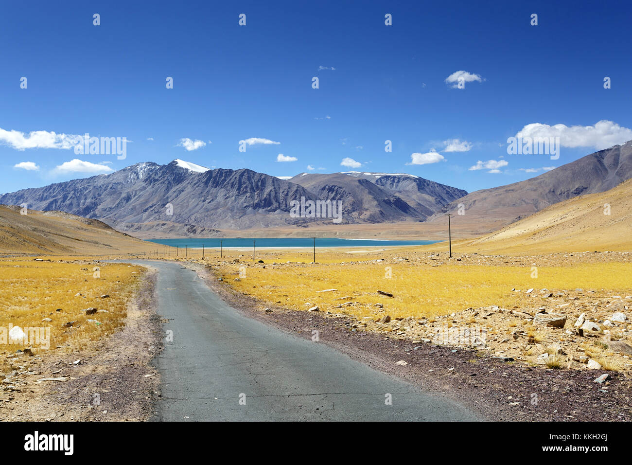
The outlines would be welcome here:
M 411 256 L 412 251 L 407 251 Z M 290 254 L 283 256 L 283 259 Z M 363 257 L 367 259 L 367 257 Z M 632 292 L 632 263 L 579 263 L 569 266 L 538 266 L 532 278 L 531 266 L 501 264 L 392 263 L 392 261 L 333 263 L 334 257 L 320 254 L 317 264 L 222 264 L 224 280 L 236 290 L 272 304 L 296 309 L 319 306 L 327 311 L 344 301 L 358 302 L 353 314 L 358 318 L 378 313 L 382 304 L 391 318 L 422 318 L 462 311 L 468 307 L 528 306 L 528 288 L 551 291 L 586 288 L 605 293 Z M 391 277 L 387 277 L 390 268 Z M 331 292 L 317 292 L 325 289 Z M 516 288 L 523 292 L 513 292 Z M 383 290 L 394 295 L 376 294 Z M 343 299 L 348 297 L 348 299 Z M 341 311 L 342 313 L 342 311 Z M 379 312 L 382 313 L 382 312 Z

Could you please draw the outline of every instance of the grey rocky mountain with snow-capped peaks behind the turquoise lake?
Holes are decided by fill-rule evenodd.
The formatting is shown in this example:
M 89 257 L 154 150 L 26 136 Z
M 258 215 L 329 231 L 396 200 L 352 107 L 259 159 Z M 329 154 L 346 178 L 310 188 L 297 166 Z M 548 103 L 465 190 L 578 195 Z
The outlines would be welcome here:
M 331 221 L 297 218 L 290 214 L 294 202 L 342 201 L 342 223 L 380 223 L 423 220 L 462 194 L 466 192 L 410 175 L 334 173 L 283 180 L 176 159 L 0 195 L 0 204 L 66 211 L 145 236 L 212 237 L 220 229 Z

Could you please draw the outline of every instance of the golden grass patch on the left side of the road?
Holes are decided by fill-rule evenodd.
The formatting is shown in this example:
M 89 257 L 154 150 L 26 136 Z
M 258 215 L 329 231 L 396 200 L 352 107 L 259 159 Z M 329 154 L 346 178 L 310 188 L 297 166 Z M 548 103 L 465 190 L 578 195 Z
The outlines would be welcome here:
M 98 272 L 94 268 L 98 267 Z M 6 354 L 32 347 L 35 354 L 56 348 L 91 347 L 124 325 L 127 304 L 138 287 L 142 267 L 113 263 L 59 263 L 5 259 L 0 261 L 0 326 L 49 327 L 50 347 L 42 344 L 0 344 L 0 371 L 8 371 Z M 82 294 L 76 296 L 76 294 Z M 102 299 L 100 296 L 109 295 Z M 85 309 L 107 310 L 86 315 Z M 59 311 L 57 311 L 59 309 Z M 50 318 L 50 322 L 42 321 Z M 97 321 L 88 321 L 92 319 Z M 75 321 L 69 328 L 65 323 Z

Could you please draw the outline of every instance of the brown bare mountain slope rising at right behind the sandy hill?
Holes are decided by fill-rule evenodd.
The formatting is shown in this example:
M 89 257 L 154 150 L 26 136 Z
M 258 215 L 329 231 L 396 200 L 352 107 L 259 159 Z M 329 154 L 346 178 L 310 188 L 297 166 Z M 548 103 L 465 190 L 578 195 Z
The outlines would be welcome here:
M 508 225 L 557 202 L 578 195 L 612 189 L 632 178 L 632 141 L 610 147 L 547 171 L 535 178 L 471 192 L 428 218 L 445 221 L 446 212 L 458 214 L 459 204 L 468 221 L 499 221 Z M 456 221 L 459 216 L 456 216 Z

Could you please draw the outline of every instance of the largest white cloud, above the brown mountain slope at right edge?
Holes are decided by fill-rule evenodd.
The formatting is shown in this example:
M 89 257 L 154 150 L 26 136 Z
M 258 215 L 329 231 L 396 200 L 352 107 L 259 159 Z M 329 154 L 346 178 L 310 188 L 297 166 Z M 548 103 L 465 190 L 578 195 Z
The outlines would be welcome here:
M 608 120 L 598 121 L 593 126 L 532 123 L 523 127 L 516 137 L 559 137 L 562 147 L 593 147 L 602 150 L 632 140 L 632 129 Z

